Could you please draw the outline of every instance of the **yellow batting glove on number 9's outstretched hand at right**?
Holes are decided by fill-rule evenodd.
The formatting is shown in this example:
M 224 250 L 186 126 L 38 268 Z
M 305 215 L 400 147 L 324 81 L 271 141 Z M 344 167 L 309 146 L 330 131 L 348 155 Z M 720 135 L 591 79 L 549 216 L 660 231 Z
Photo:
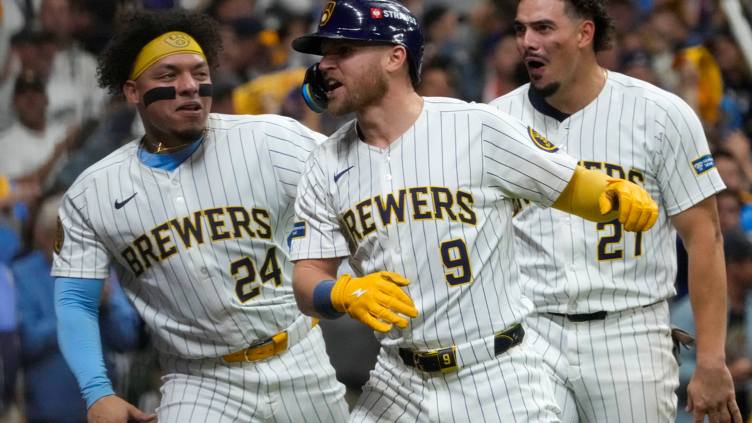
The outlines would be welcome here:
M 649 230 L 658 219 L 658 205 L 650 194 L 638 184 L 624 179 L 608 179 L 599 205 L 602 215 L 618 209 L 619 221 L 629 232 Z

